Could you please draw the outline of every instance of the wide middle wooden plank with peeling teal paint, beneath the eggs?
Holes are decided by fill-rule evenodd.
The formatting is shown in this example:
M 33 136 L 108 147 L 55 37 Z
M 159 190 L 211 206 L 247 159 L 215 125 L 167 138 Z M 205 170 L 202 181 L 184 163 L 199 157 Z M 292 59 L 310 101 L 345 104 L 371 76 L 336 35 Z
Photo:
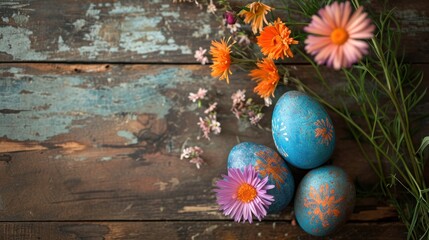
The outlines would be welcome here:
M 0 65 L 0 220 L 225 219 L 212 190 L 226 172 L 229 150 L 238 141 L 274 143 L 269 131 L 239 124 L 230 113 L 230 95 L 240 88 L 252 91 L 245 73 L 234 70 L 227 85 L 207 77 L 209 71 L 178 65 Z M 312 81 L 310 67 L 294 71 Z M 334 72 L 325 73 L 341 84 Z M 187 99 L 199 87 L 219 102 L 223 129 L 210 142 L 196 139 L 198 110 Z M 263 127 L 270 126 L 271 109 Z M 332 163 L 372 185 L 374 175 L 333 117 L 338 144 Z M 202 169 L 179 160 L 185 142 L 203 147 Z M 297 181 L 305 173 L 293 171 Z M 392 208 L 376 205 L 359 199 L 352 220 L 396 217 Z M 290 209 L 269 219 L 290 220 Z

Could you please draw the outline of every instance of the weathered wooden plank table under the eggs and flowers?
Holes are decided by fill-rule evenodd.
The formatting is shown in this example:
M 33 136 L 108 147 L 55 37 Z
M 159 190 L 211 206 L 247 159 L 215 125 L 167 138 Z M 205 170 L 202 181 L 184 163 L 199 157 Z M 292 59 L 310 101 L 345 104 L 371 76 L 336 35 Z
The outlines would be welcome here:
M 429 2 L 391 4 L 406 60 L 427 69 Z M 246 73 L 234 70 L 226 85 L 195 62 L 194 51 L 217 32 L 205 11 L 168 0 L 1 0 L 0 17 L 0 239 L 313 239 L 291 225 L 291 209 L 252 225 L 217 210 L 213 184 L 229 150 L 237 141 L 273 141 L 230 113 L 233 92 L 252 92 Z M 310 66 L 292 63 L 311 81 Z M 188 94 L 199 87 L 219 101 L 222 133 L 211 141 L 196 140 Z M 334 122 L 333 164 L 375 183 Z M 186 141 L 205 150 L 199 170 L 179 160 Z M 404 233 L 386 203 L 359 198 L 333 238 Z

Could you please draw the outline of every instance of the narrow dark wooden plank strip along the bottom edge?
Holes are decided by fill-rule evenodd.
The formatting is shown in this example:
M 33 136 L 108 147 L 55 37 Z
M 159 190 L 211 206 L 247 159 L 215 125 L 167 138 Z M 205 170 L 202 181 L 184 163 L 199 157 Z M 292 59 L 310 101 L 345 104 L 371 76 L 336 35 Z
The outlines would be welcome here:
M 312 237 L 289 222 L 22 222 L 0 223 L 3 239 L 405 239 L 399 223 L 349 223 L 326 238 Z

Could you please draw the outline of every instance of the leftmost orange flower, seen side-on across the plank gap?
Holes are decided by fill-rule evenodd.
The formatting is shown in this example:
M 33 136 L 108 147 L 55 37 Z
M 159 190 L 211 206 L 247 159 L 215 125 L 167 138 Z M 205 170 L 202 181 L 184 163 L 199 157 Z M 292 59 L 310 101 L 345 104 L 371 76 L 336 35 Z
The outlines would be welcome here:
M 226 79 L 229 83 L 229 75 L 232 74 L 229 69 L 231 66 L 231 43 L 228 45 L 229 39 L 221 39 L 220 42 L 213 40 L 212 46 L 210 47 L 210 54 L 212 55 L 213 65 L 210 66 L 212 69 L 212 77 L 219 77 L 219 80 Z

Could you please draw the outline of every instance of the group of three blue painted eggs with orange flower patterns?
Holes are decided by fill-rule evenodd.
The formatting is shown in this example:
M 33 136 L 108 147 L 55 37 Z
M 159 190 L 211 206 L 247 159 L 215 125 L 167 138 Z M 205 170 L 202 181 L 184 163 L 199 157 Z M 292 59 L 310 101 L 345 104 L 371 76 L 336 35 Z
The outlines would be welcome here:
M 352 213 L 355 187 L 344 170 L 324 165 L 335 146 L 335 130 L 328 113 L 313 98 L 288 91 L 277 101 L 272 115 L 272 135 L 277 151 L 252 142 L 236 145 L 228 168 L 251 164 L 261 178 L 268 176 L 274 196 L 269 213 L 292 204 L 299 226 L 315 236 L 335 232 Z M 295 189 L 288 164 L 309 170 Z M 296 191 L 295 191 L 296 190 Z

